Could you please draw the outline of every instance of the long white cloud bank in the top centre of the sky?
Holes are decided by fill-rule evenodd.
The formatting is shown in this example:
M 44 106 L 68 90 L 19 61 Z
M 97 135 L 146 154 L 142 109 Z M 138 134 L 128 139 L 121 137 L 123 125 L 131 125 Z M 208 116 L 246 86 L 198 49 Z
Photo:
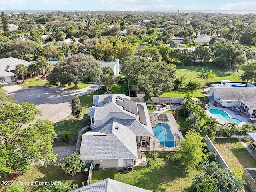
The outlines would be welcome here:
M 100 0 L 102 4 L 110 4 L 110 10 L 119 11 L 145 11 L 145 10 L 195 10 L 198 7 L 192 5 L 178 6 L 164 4 L 164 0 Z

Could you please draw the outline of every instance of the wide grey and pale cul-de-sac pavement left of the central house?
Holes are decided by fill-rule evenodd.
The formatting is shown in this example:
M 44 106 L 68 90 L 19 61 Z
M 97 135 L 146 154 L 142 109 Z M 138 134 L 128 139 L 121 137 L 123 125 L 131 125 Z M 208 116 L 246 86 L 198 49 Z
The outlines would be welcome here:
M 42 110 L 41 119 L 58 122 L 71 114 L 73 92 L 66 88 L 34 86 L 22 88 L 7 94 L 13 95 L 18 103 L 26 101 Z

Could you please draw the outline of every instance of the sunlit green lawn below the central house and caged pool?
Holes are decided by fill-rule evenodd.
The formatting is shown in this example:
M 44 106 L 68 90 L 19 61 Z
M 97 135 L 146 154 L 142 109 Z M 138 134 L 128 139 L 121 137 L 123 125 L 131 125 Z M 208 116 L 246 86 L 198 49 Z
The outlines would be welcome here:
M 181 192 L 192 184 L 192 179 L 198 174 L 197 170 L 185 174 L 184 168 L 173 157 L 171 152 L 158 152 L 159 158 L 154 164 L 147 158 L 148 166 L 136 166 L 134 172 L 116 173 L 115 169 L 102 170 L 92 173 L 92 182 L 111 178 L 133 186 L 152 190 L 155 192 L 175 191 Z M 147 156 L 147 153 L 146 153 Z M 164 157 L 169 156 L 169 160 Z

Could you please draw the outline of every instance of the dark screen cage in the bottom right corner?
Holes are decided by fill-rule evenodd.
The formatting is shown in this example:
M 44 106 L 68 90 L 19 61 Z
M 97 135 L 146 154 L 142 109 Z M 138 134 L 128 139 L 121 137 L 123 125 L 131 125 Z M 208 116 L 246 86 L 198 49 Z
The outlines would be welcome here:
M 242 180 L 247 182 L 244 187 L 251 192 L 256 192 L 256 168 L 245 168 Z

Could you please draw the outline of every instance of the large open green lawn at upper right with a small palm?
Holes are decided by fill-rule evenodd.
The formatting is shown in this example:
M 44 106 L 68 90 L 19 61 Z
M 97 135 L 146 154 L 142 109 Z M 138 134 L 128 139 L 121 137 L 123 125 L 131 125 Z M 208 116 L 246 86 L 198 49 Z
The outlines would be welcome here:
M 207 82 L 221 82 L 221 80 L 227 79 L 233 82 L 242 82 L 242 79 L 232 72 L 214 66 L 177 66 L 177 76 L 185 74 L 187 77 L 186 81 L 192 80 L 202 84 L 202 79 L 196 78 L 196 74 L 198 74 L 202 68 L 204 68 L 205 71 L 212 70 L 212 73 L 215 74 L 215 77 L 210 78 Z

